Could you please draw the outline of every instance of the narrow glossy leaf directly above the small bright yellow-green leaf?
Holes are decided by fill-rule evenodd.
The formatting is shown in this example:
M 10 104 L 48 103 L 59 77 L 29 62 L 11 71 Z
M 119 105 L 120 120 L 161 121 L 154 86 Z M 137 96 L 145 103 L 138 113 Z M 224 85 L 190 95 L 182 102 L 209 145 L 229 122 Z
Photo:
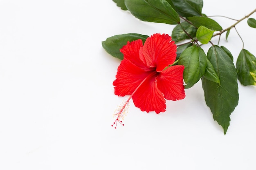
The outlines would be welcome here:
M 214 31 L 221 31 L 222 27 L 218 22 L 214 21 L 211 18 L 207 17 L 200 17 L 200 16 L 193 16 L 188 17 L 188 20 L 191 21 L 196 27 L 205 26 L 208 29 L 212 29 Z

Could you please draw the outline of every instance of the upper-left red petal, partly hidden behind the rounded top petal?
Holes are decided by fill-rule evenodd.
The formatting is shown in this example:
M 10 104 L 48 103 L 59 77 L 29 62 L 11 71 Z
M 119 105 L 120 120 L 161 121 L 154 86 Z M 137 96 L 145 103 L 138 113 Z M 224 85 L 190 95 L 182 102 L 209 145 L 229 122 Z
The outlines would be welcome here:
M 123 46 L 123 48 L 121 48 L 120 51 L 124 54 L 124 58 L 130 60 L 133 64 L 140 67 L 141 69 L 149 71 L 150 68 L 139 58 L 139 50 L 142 47 L 143 42 L 141 39 L 139 39 L 132 42 L 127 42 L 127 44 Z

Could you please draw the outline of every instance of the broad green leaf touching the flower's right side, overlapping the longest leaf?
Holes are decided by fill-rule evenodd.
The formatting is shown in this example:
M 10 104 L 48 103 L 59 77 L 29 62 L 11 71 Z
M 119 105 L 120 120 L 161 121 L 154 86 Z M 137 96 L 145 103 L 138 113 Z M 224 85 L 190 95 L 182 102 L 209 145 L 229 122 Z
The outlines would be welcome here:
M 190 46 L 181 53 L 179 65 L 185 67 L 183 71 L 185 88 L 192 87 L 204 75 L 207 66 L 206 58 L 204 50 L 198 46 Z

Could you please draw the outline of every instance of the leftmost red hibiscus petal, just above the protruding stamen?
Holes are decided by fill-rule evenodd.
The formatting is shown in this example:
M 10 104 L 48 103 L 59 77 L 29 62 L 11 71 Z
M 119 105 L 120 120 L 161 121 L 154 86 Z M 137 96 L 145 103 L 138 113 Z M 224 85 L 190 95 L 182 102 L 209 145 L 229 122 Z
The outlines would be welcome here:
M 117 68 L 116 80 L 113 82 L 115 95 L 131 95 L 147 76 L 148 73 L 124 58 Z

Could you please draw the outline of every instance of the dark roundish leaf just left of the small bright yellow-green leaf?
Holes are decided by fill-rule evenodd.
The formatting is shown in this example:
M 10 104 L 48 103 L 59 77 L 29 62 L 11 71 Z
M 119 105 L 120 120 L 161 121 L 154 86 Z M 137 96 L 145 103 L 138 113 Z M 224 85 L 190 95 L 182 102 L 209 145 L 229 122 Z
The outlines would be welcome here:
M 183 31 L 183 29 L 191 36 L 195 37 L 197 29 L 195 26 L 189 24 L 188 22 L 182 22 L 178 25 L 176 25 L 172 31 L 172 39 L 175 42 L 180 42 L 182 40 L 189 39 L 189 36 Z

